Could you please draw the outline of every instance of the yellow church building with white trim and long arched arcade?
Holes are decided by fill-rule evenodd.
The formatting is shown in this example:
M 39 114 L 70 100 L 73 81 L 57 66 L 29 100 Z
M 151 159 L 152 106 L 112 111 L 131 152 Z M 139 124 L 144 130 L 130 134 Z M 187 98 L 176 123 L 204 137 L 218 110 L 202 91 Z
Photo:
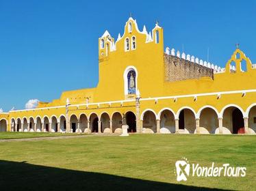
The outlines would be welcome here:
M 256 65 L 238 47 L 225 68 L 164 50 L 158 23 L 99 38 L 99 83 L 37 108 L 0 113 L 0 131 L 255 134 Z

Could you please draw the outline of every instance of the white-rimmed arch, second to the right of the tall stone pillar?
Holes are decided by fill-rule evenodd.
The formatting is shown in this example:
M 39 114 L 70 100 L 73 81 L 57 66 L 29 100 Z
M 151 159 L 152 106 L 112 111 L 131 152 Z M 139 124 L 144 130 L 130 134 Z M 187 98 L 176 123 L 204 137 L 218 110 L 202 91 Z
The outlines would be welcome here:
M 160 120 L 160 133 L 175 133 L 175 113 L 172 109 L 163 108 L 157 118 Z

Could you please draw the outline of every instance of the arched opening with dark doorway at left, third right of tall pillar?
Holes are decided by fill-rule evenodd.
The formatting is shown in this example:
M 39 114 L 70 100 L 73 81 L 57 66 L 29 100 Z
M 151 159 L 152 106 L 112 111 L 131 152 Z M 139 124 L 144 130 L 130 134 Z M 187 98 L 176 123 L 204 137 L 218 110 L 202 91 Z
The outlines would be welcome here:
M 196 131 L 195 114 L 190 108 L 183 108 L 179 113 L 179 130 L 194 134 Z

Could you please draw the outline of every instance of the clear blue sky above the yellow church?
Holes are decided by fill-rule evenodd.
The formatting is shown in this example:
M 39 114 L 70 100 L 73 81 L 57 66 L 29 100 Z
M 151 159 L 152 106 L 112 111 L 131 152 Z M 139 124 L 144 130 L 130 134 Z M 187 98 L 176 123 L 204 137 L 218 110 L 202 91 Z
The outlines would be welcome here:
M 123 2 L 123 3 L 122 3 Z M 62 91 L 95 87 L 98 38 L 117 38 L 130 12 L 139 28 L 155 20 L 165 47 L 224 67 L 235 44 L 256 63 L 256 1 L 0 0 L 0 108 L 50 102 Z

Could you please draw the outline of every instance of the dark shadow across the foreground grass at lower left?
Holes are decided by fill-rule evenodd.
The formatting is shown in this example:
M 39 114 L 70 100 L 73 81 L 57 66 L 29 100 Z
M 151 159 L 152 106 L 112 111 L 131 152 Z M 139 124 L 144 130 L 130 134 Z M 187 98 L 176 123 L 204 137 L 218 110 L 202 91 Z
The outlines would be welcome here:
M 1 190 L 217 190 L 0 160 Z

